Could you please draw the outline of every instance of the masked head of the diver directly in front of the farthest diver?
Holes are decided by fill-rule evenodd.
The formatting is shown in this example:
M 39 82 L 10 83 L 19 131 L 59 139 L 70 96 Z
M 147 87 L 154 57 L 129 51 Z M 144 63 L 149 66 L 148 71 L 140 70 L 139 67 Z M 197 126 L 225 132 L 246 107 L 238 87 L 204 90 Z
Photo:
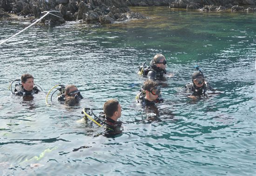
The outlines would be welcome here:
M 154 101 L 158 98 L 160 94 L 160 88 L 157 87 L 155 81 L 147 80 L 143 84 L 144 90 L 146 92 L 146 99 L 148 101 Z

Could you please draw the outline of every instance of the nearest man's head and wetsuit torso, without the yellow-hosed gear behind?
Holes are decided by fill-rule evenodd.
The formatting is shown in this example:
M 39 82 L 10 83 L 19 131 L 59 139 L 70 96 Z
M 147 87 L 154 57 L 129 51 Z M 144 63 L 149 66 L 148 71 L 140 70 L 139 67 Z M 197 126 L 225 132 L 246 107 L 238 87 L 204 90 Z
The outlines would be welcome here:
M 104 103 L 103 111 L 105 114 L 104 124 L 105 124 L 105 136 L 113 136 L 120 134 L 121 121 L 117 121 L 121 117 L 121 105 L 116 99 L 110 99 Z

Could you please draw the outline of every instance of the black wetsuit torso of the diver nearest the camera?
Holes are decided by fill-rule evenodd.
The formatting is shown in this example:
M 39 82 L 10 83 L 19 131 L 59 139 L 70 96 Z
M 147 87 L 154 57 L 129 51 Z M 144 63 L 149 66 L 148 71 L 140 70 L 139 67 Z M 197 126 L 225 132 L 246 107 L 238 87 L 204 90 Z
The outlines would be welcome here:
M 112 118 L 105 117 L 104 120 L 105 124 L 105 136 L 115 136 L 117 134 L 120 134 L 122 132 L 121 130 L 121 121 L 115 121 Z

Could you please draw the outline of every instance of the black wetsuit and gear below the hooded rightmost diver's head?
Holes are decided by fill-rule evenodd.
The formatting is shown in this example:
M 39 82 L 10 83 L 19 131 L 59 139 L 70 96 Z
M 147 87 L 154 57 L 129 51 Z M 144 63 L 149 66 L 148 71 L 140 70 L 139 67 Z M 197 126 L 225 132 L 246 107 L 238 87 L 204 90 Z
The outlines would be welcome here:
M 195 96 L 205 96 L 206 91 L 215 91 L 207 81 L 200 88 L 196 87 L 193 83 L 185 85 L 185 88 L 187 93 L 192 93 Z

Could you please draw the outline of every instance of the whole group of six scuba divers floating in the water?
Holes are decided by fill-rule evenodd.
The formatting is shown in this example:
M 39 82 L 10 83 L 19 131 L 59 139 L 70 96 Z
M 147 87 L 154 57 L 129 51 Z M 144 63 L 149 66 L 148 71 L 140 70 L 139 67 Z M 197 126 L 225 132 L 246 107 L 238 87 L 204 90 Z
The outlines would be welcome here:
M 146 62 L 145 62 L 146 63 Z M 154 106 L 157 103 L 162 103 L 163 98 L 160 94 L 161 90 L 158 87 L 157 81 L 164 77 L 166 72 L 166 64 L 167 61 L 162 54 L 156 54 L 155 57 L 151 60 L 150 65 L 146 66 L 143 63 L 142 66 L 139 67 L 138 74 L 143 75 L 143 77 L 148 77 L 141 87 L 140 93 L 136 96 L 137 103 L 140 103 L 142 106 Z M 206 91 L 215 91 L 209 83 L 205 80 L 202 71 L 199 67 L 196 67 L 197 72 L 192 74 L 192 83 L 185 85 L 183 88 L 187 93 L 190 93 L 192 96 L 205 96 Z M 12 84 L 14 81 L 20 81 L 19 84 L 15 84 L 14 92 L 12 90 Z M 34 77 L 31 74 L 23 74 L 21 79 L 15 79 L 10 87 L 13 94 L 18 96 L 33 96 L 42 91 L 42 89 L 38 88 L 40 86 L 34 84 Z M 38 87 L 37 87 L 38 86 Z M 53 95 L 56 91 L 58 92 L 57 99 L 60 102 L 63 102 L 67 106 L 74 106 L 79 103 L 83 97 L 75 85 L 55 85 L 46 96 L 46 104 L 47 98 L 50 92 L 57 88 L 51 96 L 51 101 Z M 84 108 L 82 110 L 82 114 L 84 115 L 84 119 L 86 121 L 90 120 L 92 123 L 95 123 L 99 126 L 105 127 L 105 135 L 113 136 L 121 133 L 121 121 L 118 121 L 118 118 L 121 117 L 121 105 L 118 100 L 110 99 L 106 101 L 103 105 L 103 111 L 100 112 L 98 116 L 96 116 L 93 110 L 102 110 L 102 109 L 92 109 L 92 108 Z M 91 117 L 91 116 L 94 116 Z

